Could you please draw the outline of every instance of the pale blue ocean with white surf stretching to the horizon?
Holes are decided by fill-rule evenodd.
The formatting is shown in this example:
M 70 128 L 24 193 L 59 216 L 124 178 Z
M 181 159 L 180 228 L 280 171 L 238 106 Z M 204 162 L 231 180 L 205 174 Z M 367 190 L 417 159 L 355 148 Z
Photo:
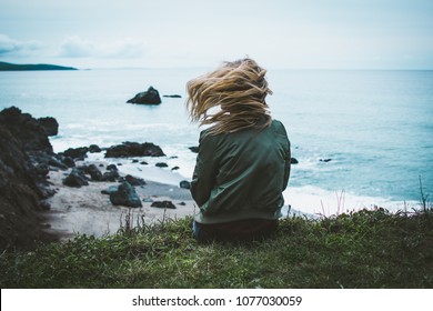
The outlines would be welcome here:
M 36 118 L 56 118 L 56 152 L 153 142 L 167 157 L 149 163 L 165 161 L 169 168 L 142 177 L 177 183 L 191 179 L 195 154 L 189 147 L 198 146 L 201 130 L 188 118 L 185 83 L 208 70 L 0 72 L 0 109 L 16 106 Z M 284 192 L 286 205 L 325 215 L 403 210 L 420 205 L 420 180 L 425 195 L 433 192 L 433 71 L 274 69 L 268 80 L 272 117 L 285 126 L 299 161 Z M 127 103 L 150 86 L 159 90 L 160 106 Z

